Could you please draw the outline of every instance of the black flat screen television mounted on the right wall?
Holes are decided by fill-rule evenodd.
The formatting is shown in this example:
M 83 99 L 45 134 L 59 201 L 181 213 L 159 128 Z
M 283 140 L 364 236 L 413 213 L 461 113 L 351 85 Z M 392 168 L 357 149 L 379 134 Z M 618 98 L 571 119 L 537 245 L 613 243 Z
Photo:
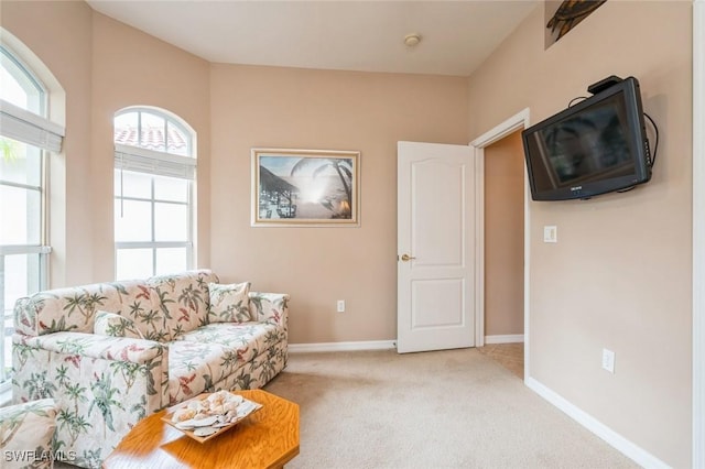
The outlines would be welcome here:
M 586 199 L 651 178 L 639 81 L 597 85 L 589 98 L 522 132 L 534 200 Z

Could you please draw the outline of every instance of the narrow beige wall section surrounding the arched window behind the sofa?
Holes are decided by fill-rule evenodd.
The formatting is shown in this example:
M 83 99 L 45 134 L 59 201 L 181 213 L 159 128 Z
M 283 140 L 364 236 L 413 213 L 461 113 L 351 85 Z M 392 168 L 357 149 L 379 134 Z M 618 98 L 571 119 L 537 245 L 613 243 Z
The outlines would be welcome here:
M 197 135 L 197 266 L 210 250 L 210 66 L 165 42 L 100 13 L 93 17 L 94 279 L 115 277 L 112 261 L 112 117 L 128 106 L 154 106 L 185 120 Z M 109 187 L 110 190 L 105 190 Z M 99 189 L 98 189 L 99 188 Z M 109 255 L 109 258 L 108 258 Z

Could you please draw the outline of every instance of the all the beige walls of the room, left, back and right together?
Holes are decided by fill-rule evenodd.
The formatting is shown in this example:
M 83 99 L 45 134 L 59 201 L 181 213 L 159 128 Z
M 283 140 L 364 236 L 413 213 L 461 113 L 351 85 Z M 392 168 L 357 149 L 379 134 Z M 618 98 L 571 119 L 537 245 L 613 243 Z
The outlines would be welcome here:
M 690 466 L 690 2 L 606 2 L 547 51 L 539 8 L 469 79 L 209 65 L 83 2 L 0 8 L 66 92 L 53 286 L 112 277 L 110 119 L 159 106 L 199 134 L 199 264 L 291 293 L 294 343 L 395 337 L 398 140 L 467 143 L 527 107 L 535 122 L 590 83 L 634 75 L 662 135 L 652 182 L 530 204 L 529 378 Z M 252 146 L 361 151 L 361 226 L 250 227 Z M 558 227 L 557 244 L 541 242 L 543 225 Z M 600 369 L 604 347 L 615 374 Z

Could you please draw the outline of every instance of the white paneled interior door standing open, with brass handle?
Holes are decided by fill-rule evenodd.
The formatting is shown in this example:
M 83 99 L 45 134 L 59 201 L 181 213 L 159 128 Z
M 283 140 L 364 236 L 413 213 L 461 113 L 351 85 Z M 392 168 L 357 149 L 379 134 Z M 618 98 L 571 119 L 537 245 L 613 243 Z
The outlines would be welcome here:
M 474 212 L 469 146 L 398 143 L 400 353 L 475 345 Z

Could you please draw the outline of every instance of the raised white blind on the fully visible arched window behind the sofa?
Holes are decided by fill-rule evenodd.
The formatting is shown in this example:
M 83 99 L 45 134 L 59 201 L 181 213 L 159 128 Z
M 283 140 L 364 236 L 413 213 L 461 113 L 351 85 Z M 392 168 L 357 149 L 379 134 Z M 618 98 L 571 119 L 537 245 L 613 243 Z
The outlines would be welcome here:
M 194 179 L 196 159 L 116 144 L 115 168 Z

